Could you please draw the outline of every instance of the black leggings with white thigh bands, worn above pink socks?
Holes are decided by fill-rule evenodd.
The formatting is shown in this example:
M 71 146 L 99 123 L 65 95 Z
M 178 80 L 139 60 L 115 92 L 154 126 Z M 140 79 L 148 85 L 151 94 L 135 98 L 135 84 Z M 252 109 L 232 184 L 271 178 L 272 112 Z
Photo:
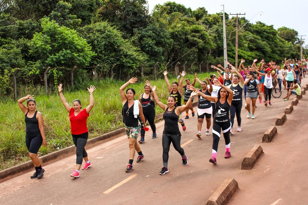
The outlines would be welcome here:
M 230 128 L 231 122 L 229 120 L 227 122 L 213 122 L 213 150 L 217 152 L 221 129 L 225 138 L 225 144 L 230 144 Z

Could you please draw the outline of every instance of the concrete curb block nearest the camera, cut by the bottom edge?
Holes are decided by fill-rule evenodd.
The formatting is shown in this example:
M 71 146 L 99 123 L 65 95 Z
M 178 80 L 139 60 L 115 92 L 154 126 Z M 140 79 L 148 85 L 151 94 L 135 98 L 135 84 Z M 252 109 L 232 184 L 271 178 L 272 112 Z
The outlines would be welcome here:
M 238 189 L 237 181 L 233 178 L 228 177 L 225 181 L 217 188 L 217 190 L 211 195 L 206 205 L 224 205 L 234 195 Z

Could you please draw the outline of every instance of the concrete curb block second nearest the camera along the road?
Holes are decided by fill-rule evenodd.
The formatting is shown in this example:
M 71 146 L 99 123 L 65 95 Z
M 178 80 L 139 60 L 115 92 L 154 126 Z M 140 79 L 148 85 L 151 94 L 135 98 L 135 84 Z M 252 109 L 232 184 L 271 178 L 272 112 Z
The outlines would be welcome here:
M 263 153 L 263 149 L 260 145 L 253 146 L 242 161 L 241 169 L 251 170 Z

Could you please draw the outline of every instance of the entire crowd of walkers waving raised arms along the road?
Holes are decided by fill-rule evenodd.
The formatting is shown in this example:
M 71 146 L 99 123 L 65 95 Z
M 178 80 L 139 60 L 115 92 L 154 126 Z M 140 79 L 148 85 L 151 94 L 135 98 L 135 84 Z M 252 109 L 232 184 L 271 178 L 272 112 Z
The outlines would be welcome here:
M 179 152 L 182 165 L 188 164 L 188 158 L 185 155 L 184 149 L 180 145 L 181 132 L 178 123 L 182 130 L 186 130 L 182 112 L 186 112 L 185 120 L 189 119 L 188 111 L 191 110 L 192 117 L 195 116 L 193 109 L 194 97 L 198 97 L 197 106 L 197 134 L 201 138 L 201 128 L 206 120 L 205 135 L 210 135 L 211 117 L 213 116 L 212 135 L 212 157 L 209 162 L 217 164 L 217 149 L 221 137 L 221 131 L 225 139 L 225 158 L 231 156 L 230 152 L 230 134 L 233 134 L 233 129 L 241 132 L 241 110 L 243 107 L 243 98 L 245 100 L 245 108 L 247 109 L 247 118 L 255 119 L 256 102 L 263 103 L 265 107 L 272 105 L 271 93 L 278 85 L 278 89 L 286 90 L 284 101 L 289 101 L 292 94 L 301 95 L 301 81 L 308 73 L 307 62 L 305 59 L 294 61 L 293 59 L 285 58 L 282 65 L 276 65 L 276 62 L 270 61 L 265 63 L 264 60 L 259 62 L 254 59 L 251 65 L 244 65 L 245 60 L 241 59 L 238 68 L 235 68 L 229 62 L 227 67 L 222 65 L 214 66 L 214 73 L 210 78 L 205 78 L 201 81 L 195 73 L 194 79 L 184 79 L 186 72 L 180 73 L 177 81 L 170 85 L 168 80 L 168 72 L 164 71 L 164 79 L 167 84 L 168 94 L 167 104 L 160 101 L 157 94 L 156 85 L 152 86 L 149 81 L 144 85 L 144 93 L 138 100 L 135 100 L 136 91 L 133 88 L 128 88 L 128 85 L 134 84 L 138 79 L 132 77 L 120 87 L 120 97 L 122 99 L 122 115 L 123 123 L 128 137 L 129 144 L 129 160 L 125 171 L 130 172 L 133 169 L 133 161 L 135 153 L 138 153 L 136 162 L 140 163 L 144 159 L 140 144 L 145 142 L 145 133 L 148 130 L 147 122 L 152 129 L 152 139 L 156 139 L 155 120 L 155 103 L 164 110 L 164 131 L 162 134 L 163 147 L 163 168 L 159 172 L 160 175 L 168 173 L 168 158 L 169 149 L 172 143 L 173 147 Z M 216 77 L 216 74 L 218 78 Z M 186 85 L 183 85 L 185 81 Z M 200 85 L 196 85 L 196 82 Z M 199 87 L 199 88 L 195 88 Z M 184 91 L 183 91 L 184 88 Z M 67 103 L 63 96 L 62 84 L 58 86 L 60 99 L 69 113 L 71 123 L 72 141 L 76 147 L 76 166 L 71 174 L 71 177 L 79 177 L 79 170 L 84 160 L 83 170 L 91 167 L 91 162 L 88 159 L 85 145 L 88 139 L 87 117 L 94 106 L 93 92 L 95 86 L 87 88 L 89 93 L 90 104 L 82 109 L 80 100 L 76 99 L 72 103 L 72 107 Z M 124 92 L 124 90 L 126 91 Z M 166 91 L 161 91 L 166 92 Z M 244 92 L 244 95 L 243 95 Z M 181 104 L 182 97 L 184 105 Z M 26 106 L 23 104 L 26 101 Z M 29 151 L 30 159 L 35 168 L 35 173 L 30 178 L 42 178 L 44 169 L 38 158 L 38 151 L 41 145 L 47 145 L 42 113 L 36 110 L 36 101 L 33 95 L 27 95 L 18 100 L 18 105 L 25 115 L 26 123 L 26 147 Z M 234 118 L 237 118 L 237 128 L 234 126 Z M 140 140 L 137 141 L 140 136 Z

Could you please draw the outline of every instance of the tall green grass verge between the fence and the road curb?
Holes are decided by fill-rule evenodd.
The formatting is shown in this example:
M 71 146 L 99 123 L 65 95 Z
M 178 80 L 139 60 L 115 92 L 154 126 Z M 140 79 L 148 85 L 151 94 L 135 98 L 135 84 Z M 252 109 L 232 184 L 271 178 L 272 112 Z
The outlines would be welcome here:
M 170 83 L 176 81 L 175 76 L 168 75 L 168 77 Z M 192 74 L 188 74 L 185 77 L 193 79 Z M 209 77 L 209 74 L 202 73 L 198 75 L 200 80 L 205 77 Z M 123 127 L 121 114 L 122 103 L 119 88 L 124 83 L 124 81 L 110 79 L 92 83 L 96 86 L 96 90 L 93 93 L 95 105 L 87 120 L 89 138 Z M 138 99 L 140 94 L 143 93 L 144 84 L 145 80 L 139 80 L 137 83 L 128 86 L 136 90 L 135 99 Z M 161 101 L 166 103 L 166 98 L 169 93 L 167 92 L 167 85 L 164 79 L 151 80 L 151 85 L 156 85 L 157 93 Z M 196 83 L 196 87 L 200 88 L 198 82 Z M 53 95 L 39 94 L 44 93 L 41 87 L 26 88 L 23 92 L 21 90 L 21 93 L 23 93 L 23 96 L 35 94 L 37 110 L 43 114 L 48 145 L 46 148 L 43 146 L 40 148 L 39 156 L 73 145 L 69 113 L 64 108 L 59 93 L 56 92 Z M 72 101 L 77 98 L 81 101 L 83 108 L 89 104 L 89 94 L 86 88 L 84 90 L 69 92 L 64 87 L 63 94 L 69 104 L 72 104 Z M 26 126 L 24 115 L 18 107 L 17 101 L 2 100 L 0 101 L 0 106 L 2 108 L 2 112 L 0 112 L 0 170 L 3 170 L 30 160 L 30 158 L 28 157 L 28 150 L 25 144 Z M 156 114 L 163 112 L 159 106 L 156 106 L 155 110 Z

